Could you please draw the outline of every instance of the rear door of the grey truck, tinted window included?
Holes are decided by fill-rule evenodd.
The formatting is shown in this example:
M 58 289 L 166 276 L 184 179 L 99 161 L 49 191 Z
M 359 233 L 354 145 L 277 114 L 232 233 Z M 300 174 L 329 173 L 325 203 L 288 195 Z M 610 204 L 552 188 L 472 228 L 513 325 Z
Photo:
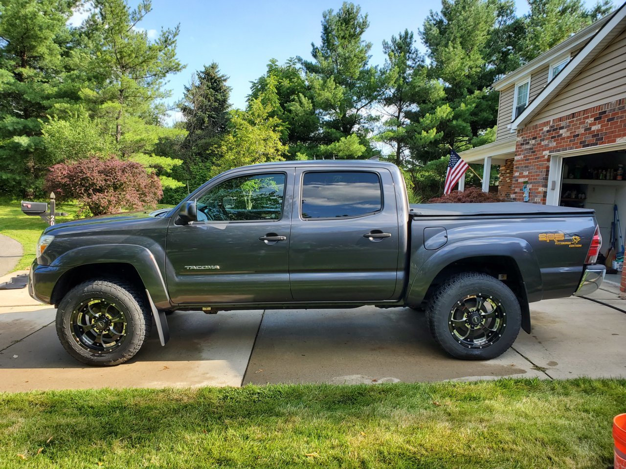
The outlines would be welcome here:
M 295 301 L 382 301 L 394 295 L 398 211 L 387 169 L 297 168 L 289 241 Z

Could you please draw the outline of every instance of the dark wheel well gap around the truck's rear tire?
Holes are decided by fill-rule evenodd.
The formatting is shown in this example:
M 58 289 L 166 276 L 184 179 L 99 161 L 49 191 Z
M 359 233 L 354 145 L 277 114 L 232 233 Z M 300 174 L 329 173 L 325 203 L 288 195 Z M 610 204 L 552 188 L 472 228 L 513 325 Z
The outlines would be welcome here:
M 520 302 L 521 327 L 530 334 L 530 309 L 526 287 L 515 259 L 508 256 L 479 256 L 455 261 L 445 266 L 433 279 L 424 298 L 431 298 L 436 288 L 450 276 L 463 272 L 478 272 L 495 277 L 510 288 Z M 501 278 L 505 275 L 506 278 Z

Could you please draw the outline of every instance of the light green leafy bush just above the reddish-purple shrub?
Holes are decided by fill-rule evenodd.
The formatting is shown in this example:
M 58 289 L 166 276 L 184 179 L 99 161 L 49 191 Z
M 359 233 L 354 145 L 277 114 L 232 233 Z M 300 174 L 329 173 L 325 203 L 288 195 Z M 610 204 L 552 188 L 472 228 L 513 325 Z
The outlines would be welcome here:
M 41 134 L 50 166 L 91 156 L 109 156 L 116 151 L 115 140 L 85 113 L 66 119 L 54 116 L 42 125 Z

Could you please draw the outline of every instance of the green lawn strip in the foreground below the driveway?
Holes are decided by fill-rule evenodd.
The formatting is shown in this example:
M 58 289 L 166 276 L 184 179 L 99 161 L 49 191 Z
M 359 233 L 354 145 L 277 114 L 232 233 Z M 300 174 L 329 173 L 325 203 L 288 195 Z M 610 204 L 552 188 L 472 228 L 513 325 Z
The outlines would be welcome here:
M 0 467 L 606 469 L 624 411 L 626 380 L 4 393 Z

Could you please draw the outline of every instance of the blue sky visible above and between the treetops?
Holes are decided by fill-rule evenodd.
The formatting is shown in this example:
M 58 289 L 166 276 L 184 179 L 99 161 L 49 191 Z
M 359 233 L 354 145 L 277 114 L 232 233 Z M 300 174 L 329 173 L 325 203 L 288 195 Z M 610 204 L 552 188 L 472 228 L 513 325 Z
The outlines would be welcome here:
M 131 6 L 135 1 L 129 0 Z M 181 73 L 171 76 L 170 104 L 182 98 L 183 86 L 194 71 L 213 61 L 227 74 L 232 87 L 231 103 L 245 106 L 250 81 L 265 72 L 269 59 L 284 62 L 292 56 L 310 58 L 310 43 L 319 44 L 322 11 L 341 7 L 341 0 L 323 1 L 171 1 L 153 0 L 152 11 L 138 25 L 154 37 L 162 27 L 180 23 L 177 53 L 183 64 Z M 441 8 L 439 1 L 416 0 L 356 1 L 368 14 L 370 26 L 366 40 L 372 43 L 372 64 L 384 63 L 382 40 L 408 28 L 418 36 L 418 29 L 430 9 Z M 585 0 L 590 5 L 593 0 Z M 516 0 L 518 14 L 528 11 L 526 0 Z M 418 39 L 419 41 L 419 39 Z M 419 43 L 421 50 L 424 48 Z M 177 119 L 173 115 L 170 119 Z M 178 119 L 177 119 L 178 120 Z

